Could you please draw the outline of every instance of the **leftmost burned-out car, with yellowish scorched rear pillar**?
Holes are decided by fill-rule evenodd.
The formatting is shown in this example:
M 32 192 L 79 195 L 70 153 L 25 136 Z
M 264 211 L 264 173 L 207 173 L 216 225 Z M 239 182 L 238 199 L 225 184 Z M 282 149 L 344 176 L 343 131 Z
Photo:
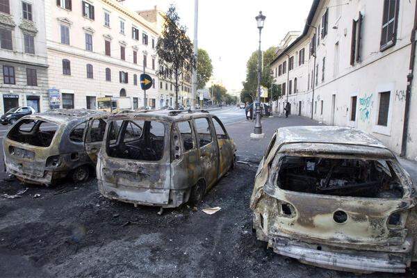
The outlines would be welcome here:
M 85 181 L 95 164 L 85 152 L 83 136 L 97 111 L 56 109 L 29 115 L 16 122 L 3 140 L 6 171 L 20 181 L 51 185 L 70 176 Z M 106 125 L 97 126 L 99 136 Z

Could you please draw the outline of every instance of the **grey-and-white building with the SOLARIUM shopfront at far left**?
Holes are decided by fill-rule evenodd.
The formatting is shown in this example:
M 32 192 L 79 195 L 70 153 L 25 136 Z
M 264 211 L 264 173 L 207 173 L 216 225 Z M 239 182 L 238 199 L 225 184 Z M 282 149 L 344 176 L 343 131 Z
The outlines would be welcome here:
M 0 113 L 48 108 L 44 0 L 0 0 Z

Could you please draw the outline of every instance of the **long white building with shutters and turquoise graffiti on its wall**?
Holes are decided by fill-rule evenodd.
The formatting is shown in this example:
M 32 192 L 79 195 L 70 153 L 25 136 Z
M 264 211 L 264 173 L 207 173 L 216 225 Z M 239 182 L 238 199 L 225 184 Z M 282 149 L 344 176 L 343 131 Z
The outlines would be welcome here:
M 271 63 L 277 110 L 288 101 L 292 114 L 362 129 L 416 159 L 417 112 L 404 114 L 417 102 L 416 85 L 406 97 L 415 18 L 416 1 L 314 0 L 302 34 Z

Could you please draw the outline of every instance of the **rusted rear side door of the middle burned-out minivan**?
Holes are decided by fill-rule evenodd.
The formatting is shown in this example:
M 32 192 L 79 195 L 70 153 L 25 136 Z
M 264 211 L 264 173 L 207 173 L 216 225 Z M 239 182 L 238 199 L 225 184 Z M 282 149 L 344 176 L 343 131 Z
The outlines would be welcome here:
M 219 172 L 219 149 L 215 140 L 215 131 L 207 117 L 194 119 L 194 126 L 199 148 L 198 162 L 206 181 L 206 187 L 210 188 L 217 181 Z

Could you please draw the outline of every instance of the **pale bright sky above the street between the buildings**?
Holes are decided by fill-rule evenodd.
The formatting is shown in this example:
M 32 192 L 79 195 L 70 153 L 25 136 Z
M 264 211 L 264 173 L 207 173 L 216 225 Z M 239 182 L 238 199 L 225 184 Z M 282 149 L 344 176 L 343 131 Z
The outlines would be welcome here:
M 213 63 L 213 78 L 229 92 L 242 89 L 246 62 L 258 49 L 256 15 L 266 16 L 261 48 L 277 46 L 288 31 L 302 31 L 313 0 L 199 0 L 198 47 L 206 49 Z M 194 38 L 195 0 L 125 0 L 131 10 L 167 10 L 177 7 L 181 23 Z

